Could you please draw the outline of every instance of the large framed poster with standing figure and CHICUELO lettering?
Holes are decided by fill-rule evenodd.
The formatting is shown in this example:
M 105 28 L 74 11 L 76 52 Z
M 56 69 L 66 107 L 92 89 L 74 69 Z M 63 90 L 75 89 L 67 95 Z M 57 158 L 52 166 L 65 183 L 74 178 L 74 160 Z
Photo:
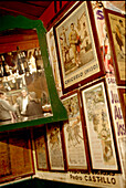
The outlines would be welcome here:
M 78 2 L 54 25 L 63 93 L 105 74 L 90 1 Z

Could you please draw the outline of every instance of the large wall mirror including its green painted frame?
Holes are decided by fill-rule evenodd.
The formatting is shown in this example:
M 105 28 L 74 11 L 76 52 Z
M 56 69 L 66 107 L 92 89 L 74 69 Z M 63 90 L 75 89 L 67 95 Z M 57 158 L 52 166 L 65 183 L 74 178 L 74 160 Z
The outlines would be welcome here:
M 0 25 L 0 132 L 67 119 L 41 20 L 6 15 Z

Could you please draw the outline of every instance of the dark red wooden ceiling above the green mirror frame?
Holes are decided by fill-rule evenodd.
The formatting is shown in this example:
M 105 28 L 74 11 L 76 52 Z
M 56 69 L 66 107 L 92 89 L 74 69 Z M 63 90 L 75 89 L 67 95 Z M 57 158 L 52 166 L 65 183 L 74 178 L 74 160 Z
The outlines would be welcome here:
M 0 17 L 19 14 L 38 20 L 52 1 L 0 1 Z

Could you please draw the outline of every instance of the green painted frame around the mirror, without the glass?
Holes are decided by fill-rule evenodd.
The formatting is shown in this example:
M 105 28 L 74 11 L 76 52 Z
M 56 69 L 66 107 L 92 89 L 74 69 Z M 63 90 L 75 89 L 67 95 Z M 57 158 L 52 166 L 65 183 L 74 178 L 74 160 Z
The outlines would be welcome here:
M 46 44 L 46 30 L 43 27 L 42 21 L 41 20 L 31 20 L 23 15 L 0 17 L 0 31 L 4 31 L 8 29 L 15 29 L 15 28 L 36 29 L 39 44 L 40 44 L 41 54 L 42 54 L 43 64 L 44 64 L 46 84 L 48 84 L 48 88 L 49 88 L 49 95 L 50 95 L 53 116 L 42 117 L 39 119 L 29 121 L 29 122 L 20 122 L 20 123 L 14 123 L 14 124 L 1 125 L 0 132 L 31 127 L 31 126 L 35 126 L 35 125 L 67 119 L 66 109 L 63 106 L 62 102 L 60 101 L 57 92 L 56 92 L 52 67 L 51 67 L 51 64 L 49 61 L 48 44 Z

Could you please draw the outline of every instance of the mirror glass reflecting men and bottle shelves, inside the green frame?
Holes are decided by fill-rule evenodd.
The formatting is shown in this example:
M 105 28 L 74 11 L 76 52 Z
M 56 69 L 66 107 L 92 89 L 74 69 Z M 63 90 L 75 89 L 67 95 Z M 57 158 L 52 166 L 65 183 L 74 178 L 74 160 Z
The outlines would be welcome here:
M 52 116 L 36 31 L 2 31 L 0 41 L 0 125 Z

